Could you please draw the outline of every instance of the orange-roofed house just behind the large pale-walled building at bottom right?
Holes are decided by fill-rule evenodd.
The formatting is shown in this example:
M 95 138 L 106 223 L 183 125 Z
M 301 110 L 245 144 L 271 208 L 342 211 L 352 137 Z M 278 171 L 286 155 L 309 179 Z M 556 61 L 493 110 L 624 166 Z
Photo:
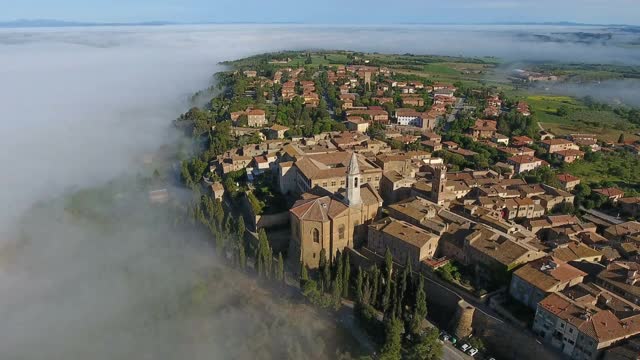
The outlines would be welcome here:
M 509 294 L 535 310 L 551 293 L 580 284 L 587 274 L 553 257 L 534 260 L 513 273 Z

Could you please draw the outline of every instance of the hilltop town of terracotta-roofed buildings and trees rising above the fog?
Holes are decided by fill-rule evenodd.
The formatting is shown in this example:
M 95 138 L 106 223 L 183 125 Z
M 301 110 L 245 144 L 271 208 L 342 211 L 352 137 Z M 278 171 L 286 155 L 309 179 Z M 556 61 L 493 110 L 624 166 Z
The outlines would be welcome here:
M 488 59 L 347 51 L 225 65 L 175 125 L 201 145 L 189 213 L 234 264 L 352 306 L 381 358 L 442 356 L 434 336 L 445 358 L 637 353 L 640 144 L 545 125 L 587 100 L 510 90 L 556 75 L 484 84 Z

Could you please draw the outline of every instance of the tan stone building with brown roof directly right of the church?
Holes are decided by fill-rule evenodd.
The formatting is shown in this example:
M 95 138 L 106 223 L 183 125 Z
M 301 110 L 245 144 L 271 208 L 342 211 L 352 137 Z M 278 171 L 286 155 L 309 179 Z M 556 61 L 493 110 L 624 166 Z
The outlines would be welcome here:
M 397 263 L 420 268 L 420 262 L 432 258 L 439 237 L 424 229 L 394 218 L 385 218 L 369 225 L 367 248 L 384 255 L 389 249 Z

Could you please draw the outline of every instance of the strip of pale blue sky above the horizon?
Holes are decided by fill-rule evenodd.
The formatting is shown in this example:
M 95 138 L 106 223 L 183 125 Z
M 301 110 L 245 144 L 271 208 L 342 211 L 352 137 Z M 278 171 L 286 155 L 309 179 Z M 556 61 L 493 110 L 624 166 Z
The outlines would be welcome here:
M 637 0 L 20 0 L 0 20 L 340 24 L 574 21 L 640 25 Z

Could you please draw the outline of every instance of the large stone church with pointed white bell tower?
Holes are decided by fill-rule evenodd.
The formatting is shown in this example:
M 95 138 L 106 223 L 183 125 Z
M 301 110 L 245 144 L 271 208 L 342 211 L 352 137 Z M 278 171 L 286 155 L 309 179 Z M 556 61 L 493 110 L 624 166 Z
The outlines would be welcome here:
M 290 210 L 290 259 L 315 269 L 322 249 L 333 260 L 338 251 L 364 243 L 366 227 L 378 215 L 382 198 L 370 184 L 363 184 L 361 177 L 357 155 L 352 153 L 346 189 L 330 193 L 315 187 L 302 194 Z

